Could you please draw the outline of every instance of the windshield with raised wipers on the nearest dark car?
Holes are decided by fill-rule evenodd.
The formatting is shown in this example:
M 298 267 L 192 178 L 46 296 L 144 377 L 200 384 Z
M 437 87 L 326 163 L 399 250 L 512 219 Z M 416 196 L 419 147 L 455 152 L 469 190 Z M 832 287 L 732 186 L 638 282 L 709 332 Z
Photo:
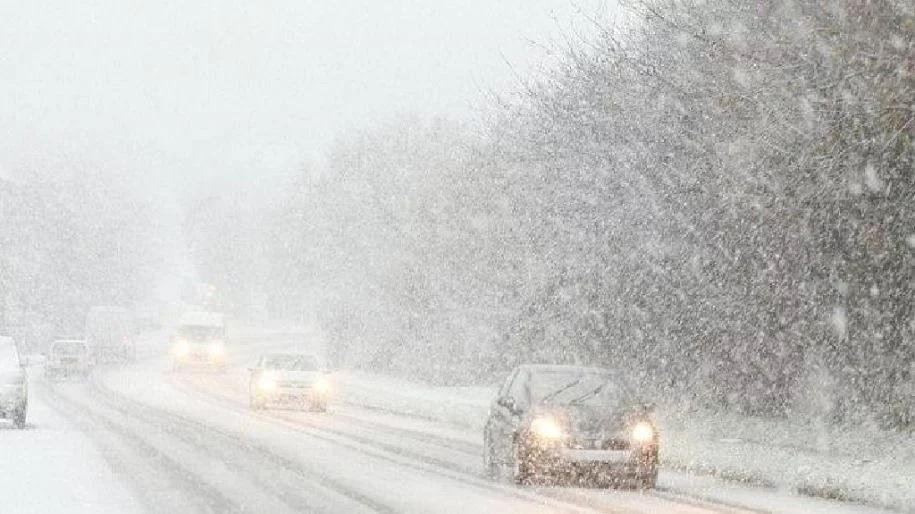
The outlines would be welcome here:
M 613 374 L 598 371 L 532 372 L 528 390 L 534 404 L 599 405 L 617 401 L 620 396 Z

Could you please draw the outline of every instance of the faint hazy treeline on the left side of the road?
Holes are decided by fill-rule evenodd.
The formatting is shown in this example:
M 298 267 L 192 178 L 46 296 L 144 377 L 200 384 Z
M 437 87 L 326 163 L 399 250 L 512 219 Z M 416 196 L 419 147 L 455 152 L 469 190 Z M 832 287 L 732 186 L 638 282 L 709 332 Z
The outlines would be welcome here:
M 40 351 L 54 337 L 82 335 L 94 305 L 145 301 L 161 257 L 156 228 L 116 172 L 0 178 L 0 334 Z

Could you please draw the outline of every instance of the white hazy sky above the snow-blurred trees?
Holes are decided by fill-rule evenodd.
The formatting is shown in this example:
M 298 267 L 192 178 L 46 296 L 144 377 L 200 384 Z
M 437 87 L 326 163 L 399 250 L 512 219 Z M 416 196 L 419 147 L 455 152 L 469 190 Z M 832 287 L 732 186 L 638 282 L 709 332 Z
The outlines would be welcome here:
M 176 190 L 315 160 L 347 127 L 469 114 L 601 0 L 0 0 L 0 169 L 77 157 Z M 158 181 L 157 181 L 158 182 Z

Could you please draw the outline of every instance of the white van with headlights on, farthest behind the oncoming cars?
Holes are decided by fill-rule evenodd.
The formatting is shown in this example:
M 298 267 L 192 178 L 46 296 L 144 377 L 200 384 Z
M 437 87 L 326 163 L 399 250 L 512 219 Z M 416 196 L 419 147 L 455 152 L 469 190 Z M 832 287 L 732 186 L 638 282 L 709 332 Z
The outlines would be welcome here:
M 172 369 L 222 371 L 226 366 L 226 325 L 222 313 L 193 311 L 171 337 Z

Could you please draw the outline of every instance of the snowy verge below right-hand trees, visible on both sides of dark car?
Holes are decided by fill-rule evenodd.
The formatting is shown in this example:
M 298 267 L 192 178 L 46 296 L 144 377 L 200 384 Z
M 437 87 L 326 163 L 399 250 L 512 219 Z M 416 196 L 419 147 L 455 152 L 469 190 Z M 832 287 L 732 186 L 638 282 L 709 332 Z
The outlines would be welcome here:
M 350 404 L 482 431 L 495 387 L 337 373 Z M 915 438 L 791 420 L 658 411 L 665 467 L 806 496 L 915 512 Z

